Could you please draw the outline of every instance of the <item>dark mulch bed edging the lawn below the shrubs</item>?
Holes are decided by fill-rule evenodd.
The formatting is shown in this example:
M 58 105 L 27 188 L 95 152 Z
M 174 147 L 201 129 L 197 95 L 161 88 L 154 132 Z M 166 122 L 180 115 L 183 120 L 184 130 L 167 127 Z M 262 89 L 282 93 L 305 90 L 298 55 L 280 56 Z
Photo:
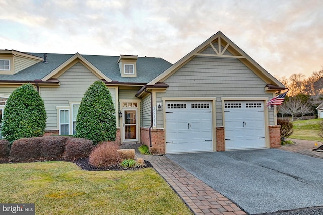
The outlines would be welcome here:
M 91 164 L 89 164 L 89 158 L 81 158 L 75 161 L 71 160 L 66 160 L 66 159 L 48 159 L 48 158 L 40 158 L 40 159 L 29 159 L 27 161 L 15 161 L 13 162 L 10 157 L 0 157 L 0 164 L 5 164 L 5 163 L 29 163 L 29 162 L 38 162 L 38 161 L 68 161 L 68 162 L 73 162 L 77 166 L 81 167 L 83 170 L 89 170 L 89 171 L 107 171 L 107 170 L 137 170 L 137 169 L 142 169 L 142 168 L 147 168 L 147 167 L 153 167 L 152 164 L 149 161 L 144 161 L 145 166 L 144 167 L 138 167 L 138 168 L 124 168 L 120 166 L 119 164 L 112 165 L 109 167 L 94 167 Z

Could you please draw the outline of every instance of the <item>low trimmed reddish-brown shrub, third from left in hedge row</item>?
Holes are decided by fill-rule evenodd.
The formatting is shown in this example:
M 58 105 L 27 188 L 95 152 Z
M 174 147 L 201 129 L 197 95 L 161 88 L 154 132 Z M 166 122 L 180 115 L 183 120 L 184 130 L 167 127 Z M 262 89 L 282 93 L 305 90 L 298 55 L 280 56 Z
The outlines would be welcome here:
M 67 136 L 45 136 L 39 144 L 40 156 L 44 158 L 59 158 L 63 156 Z

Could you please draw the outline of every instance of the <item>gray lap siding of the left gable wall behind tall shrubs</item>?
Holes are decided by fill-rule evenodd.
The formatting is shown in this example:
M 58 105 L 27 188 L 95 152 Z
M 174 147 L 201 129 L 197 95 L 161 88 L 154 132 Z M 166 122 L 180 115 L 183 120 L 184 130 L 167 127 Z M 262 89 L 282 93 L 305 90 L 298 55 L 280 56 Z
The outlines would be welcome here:
M 58 129 L 56 107 L 69 107 L 69 101 L 81 102 L 88 87 L 99 78 L 81 63 L 77 63 L 58 77 L 58 80 L 60 87 L 42 87 L 40 90 L 47 112 L 46 130 Z M 115 88 L 109 90 L 116 105 Z

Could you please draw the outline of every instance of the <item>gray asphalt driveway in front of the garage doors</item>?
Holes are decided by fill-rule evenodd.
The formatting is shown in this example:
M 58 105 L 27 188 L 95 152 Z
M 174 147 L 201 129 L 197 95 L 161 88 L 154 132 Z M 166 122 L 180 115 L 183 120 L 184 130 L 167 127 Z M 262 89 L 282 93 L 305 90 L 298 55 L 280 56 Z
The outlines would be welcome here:
M 323 159 L 278 149 L 167 157 L 249 214 L 323 206 Z

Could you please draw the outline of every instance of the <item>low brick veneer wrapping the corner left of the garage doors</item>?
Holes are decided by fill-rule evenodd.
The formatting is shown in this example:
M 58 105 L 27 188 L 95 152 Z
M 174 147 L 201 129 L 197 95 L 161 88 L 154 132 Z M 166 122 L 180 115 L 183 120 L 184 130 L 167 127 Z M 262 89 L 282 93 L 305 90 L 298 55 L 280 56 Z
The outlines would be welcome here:
M 149 128 L 140 128 L 141 143 L 150 147 Z M 165 154 L 164 129 L 151 129 L 151 146 L 157 149 L 159 154 Z

